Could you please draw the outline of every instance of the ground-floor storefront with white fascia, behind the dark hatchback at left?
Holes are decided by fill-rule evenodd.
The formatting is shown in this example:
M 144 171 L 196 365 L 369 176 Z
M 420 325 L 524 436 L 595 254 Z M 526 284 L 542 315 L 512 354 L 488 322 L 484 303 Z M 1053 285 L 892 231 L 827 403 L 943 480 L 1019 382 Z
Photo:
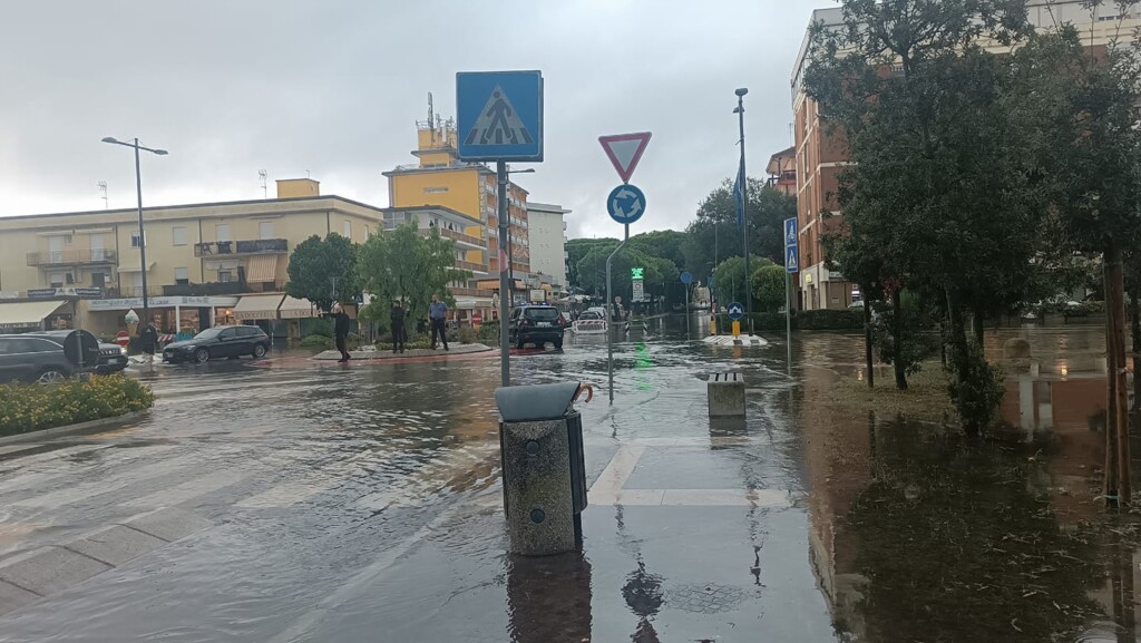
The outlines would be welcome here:
M 212 325 L 233 323 L 237 297 L 151 297 L 147 306 L 152 322 L 161 333 L 196 333 Z M 143 299 L 91 299 L 83 302 L 88 312 L 88 330 L 96 335 L 114 335 L 127 328 L 123 315 L 135 311 L 141 316 Z

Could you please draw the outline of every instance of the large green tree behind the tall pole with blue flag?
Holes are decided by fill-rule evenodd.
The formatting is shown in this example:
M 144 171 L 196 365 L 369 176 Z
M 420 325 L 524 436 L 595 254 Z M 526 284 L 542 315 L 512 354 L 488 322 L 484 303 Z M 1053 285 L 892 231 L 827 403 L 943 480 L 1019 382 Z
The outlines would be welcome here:
M 755 178 L 747 183 L 748 250 L 784 264 L 784 220 L 796 216 L 796 199 Z M 697 217 L 686 228 L 686 238 L 685 267 L 701 281 L 707 281 L 710 273 L 725 259 L 744 256 L 733 179 L 722 180 L 701 202 Z

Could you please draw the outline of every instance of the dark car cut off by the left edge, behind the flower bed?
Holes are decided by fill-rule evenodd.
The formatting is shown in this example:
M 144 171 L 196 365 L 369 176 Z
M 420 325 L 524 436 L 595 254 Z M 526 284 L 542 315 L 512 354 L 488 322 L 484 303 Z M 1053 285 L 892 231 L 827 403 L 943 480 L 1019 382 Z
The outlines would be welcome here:
M 76 343 L 65 349 L 70 338 Z M 81 363 L 98 363 L 98 339 L 83 330 L 0 335 L 0 381 L 64 381 L 81 370 Z

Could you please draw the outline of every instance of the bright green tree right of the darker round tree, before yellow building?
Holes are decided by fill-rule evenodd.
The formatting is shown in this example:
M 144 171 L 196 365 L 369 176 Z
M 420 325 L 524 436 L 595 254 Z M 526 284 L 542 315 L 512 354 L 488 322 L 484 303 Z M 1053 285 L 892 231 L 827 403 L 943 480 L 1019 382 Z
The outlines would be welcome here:
M 471 273 L 454 264 L 455 241 L 440 236 L 438 228 L 426 236 L 416 222 L 408 222 L 370 236 L 361 247 L 358 263 L 364 289 L 374 297 L 365 316 L 387 319 L 391 303 L 399 300 L 410 320 L 424 319 L 432 295 L 455 305 L 448 287 Z

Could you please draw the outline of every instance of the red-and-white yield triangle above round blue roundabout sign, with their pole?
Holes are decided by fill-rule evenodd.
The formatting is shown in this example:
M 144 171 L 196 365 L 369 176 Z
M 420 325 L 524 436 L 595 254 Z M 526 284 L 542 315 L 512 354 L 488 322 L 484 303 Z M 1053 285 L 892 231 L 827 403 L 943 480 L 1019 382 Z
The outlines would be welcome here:
M 630 185 L 630 177 L 633 176 L 634 169 L 638 168 L 638 161 L 641 160 L 642 153 L 646 151 L 646 145 L 649 144 L 650 136 L 650 132 L 642 131 L 638 134 L 598 137 L 598 142 L 602 144 L 602 151 L 606 152 L 607 158 L 610 159 L 610 163 L 614 164 L 614 169 L 618 172 L 618 178 L 622 179 L 622 185 L 612 190 L 610 194 L 606 198 L 606 211 L 610 214 L 612 219 L 622 224 L 625 228 L 622 242 L 606 258 L 606 375 L 612 404 L 614 403 L 614 329 L 610 327 L 610 322 L 614 320 L 614 294 L 610 268 L 614 263 L 614 256 L 630 241 L 630 224 L 636 223 L 646 214 L 646 195 L 637 186 Z

